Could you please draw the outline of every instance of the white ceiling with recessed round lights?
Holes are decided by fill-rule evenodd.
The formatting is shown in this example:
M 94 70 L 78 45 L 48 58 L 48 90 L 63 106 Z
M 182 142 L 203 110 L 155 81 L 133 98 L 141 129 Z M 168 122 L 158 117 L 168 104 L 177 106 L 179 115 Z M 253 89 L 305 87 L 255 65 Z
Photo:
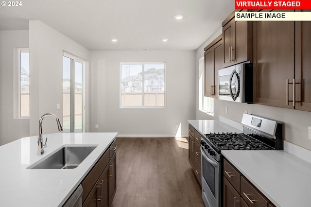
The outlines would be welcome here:
M 0 7 L 0 30 L 40 20 L 89 50 L 195 50 L 233 10 L 234 0 L 22 0 Z

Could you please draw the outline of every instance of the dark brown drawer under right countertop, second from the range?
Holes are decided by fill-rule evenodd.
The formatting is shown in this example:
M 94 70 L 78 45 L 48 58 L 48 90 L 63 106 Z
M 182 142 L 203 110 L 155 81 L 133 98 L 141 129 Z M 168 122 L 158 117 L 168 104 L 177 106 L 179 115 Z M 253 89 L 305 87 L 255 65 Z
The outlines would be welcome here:
M 266 207 L 269 200 L 259 190 L 241 176 L 241 196 L 252 207 Z

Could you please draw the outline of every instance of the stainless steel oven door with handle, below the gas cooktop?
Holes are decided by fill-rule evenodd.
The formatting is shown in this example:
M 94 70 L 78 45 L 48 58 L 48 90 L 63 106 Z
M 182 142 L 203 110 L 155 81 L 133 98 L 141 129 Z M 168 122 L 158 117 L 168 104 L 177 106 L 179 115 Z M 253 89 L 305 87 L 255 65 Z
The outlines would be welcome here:
M 201 146 L 202 199 L 206 207 L 220 206 L 220 163 Z

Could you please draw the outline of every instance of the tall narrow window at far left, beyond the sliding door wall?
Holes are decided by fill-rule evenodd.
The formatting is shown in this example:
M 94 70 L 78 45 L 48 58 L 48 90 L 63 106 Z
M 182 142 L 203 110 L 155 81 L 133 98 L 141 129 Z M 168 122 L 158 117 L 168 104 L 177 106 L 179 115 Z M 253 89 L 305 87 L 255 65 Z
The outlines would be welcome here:
M 29 49 L 18 48 L 17 64 L 17 118 L 30 116 Z

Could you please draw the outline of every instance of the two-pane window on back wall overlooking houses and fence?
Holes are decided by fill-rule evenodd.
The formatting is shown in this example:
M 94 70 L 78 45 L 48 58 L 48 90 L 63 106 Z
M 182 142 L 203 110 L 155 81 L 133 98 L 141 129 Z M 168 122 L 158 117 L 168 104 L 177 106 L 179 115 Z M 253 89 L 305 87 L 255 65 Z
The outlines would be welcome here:
M 165 63 L 121 63 L 121 107 L 165 107 Z

